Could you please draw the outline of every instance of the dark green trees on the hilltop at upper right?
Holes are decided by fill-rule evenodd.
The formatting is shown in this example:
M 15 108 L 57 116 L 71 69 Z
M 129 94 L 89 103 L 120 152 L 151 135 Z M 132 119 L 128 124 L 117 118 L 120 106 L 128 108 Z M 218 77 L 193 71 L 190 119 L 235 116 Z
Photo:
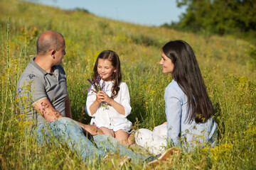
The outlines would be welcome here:
M 177 6 L 187 6 L 181 21 L 170 26 L 211 33 L 249 32 L 256 30 L 255 0 L 176 0 Z

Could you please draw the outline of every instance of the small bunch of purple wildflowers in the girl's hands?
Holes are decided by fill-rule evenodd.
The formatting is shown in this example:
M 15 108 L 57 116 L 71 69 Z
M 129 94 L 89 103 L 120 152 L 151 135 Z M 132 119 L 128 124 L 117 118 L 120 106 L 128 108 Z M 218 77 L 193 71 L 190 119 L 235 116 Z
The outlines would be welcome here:
M 95 94 L 97 94 L 97 92 L 99 91 L 103 91 L 104 87 L 105 87 L 105 81 L 102 82 L 102 84 L 100 84 L 100 80 L 101 80 L 101 77 L 100 77 L 100 74 L 97 75 L 96 79 L 93 78 L 93 81 L 91 81 L 90 79 L 87 79 L 87 81 L 90 82 L 90 84 L 92 84 L 92 89 L 85 89 L 83 90 L 82 92 L 85 92 L 85 91 L 92 91 L 92 93 L 94 92 Z M 107 103 L 105 102 L 102 102 L 102 105 L 101 105 L 103 108 L 107 108 Z

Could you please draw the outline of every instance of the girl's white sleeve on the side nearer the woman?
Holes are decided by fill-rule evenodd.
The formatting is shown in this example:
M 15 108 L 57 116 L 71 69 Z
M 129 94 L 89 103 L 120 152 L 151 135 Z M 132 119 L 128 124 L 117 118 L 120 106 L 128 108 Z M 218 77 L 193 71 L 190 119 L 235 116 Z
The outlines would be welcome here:
M 125 111 L 125 115 L 124 117 L 127 117 L 127 115 L 129 115 L 132 111 L 132 107 L 131 107 L 131 103 L 130 103 L 130 97 L 129 97 L 129 89 L 127 84 L 125 84 L 124 82 L 122 82 L 122 84 L 120 84 L 120 91 L 119 93 L 121 93 L 121 103 L 122 106 L 124 106 L 124 111 Z

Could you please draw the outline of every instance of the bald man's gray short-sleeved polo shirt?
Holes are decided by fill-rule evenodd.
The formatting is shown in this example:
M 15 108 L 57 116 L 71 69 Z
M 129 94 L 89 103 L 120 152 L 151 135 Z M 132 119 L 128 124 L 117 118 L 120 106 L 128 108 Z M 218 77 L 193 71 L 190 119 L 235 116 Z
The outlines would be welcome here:
M 33 60 L 21 74 L 17 84 L 18 103 L 21 113 L 26 114 L 27 120 L 36 120 L 40 125 L 46 121 L 37 113 L 32 105 L 47 98 L 61 115 L 65 116 L 65 97 L 68 95 L 65 71 L 61 65 L 53 66 L 54 74 L 46 72 Z

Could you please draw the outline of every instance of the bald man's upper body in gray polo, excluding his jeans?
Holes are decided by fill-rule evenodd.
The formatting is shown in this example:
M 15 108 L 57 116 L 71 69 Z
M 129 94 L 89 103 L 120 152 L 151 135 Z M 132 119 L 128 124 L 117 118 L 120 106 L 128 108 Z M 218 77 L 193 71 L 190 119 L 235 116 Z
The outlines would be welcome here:
M 21 111 L 25 109 L 23 113 L 36 126 L 63 117 L 72 119 L 66 76 L 60 65 L 66 54 L 63 35 L 46 31 L 39 36 L 36 47 L 36 57 L 33 57 L 18 81 L 19 98 L 27 96 L 25 103 L 24 100 L 20 102 Z M 27 89 L 24 83 L 31 88 Z M 33 107 L 24 107 L 28 103 L 32 103 Z M 79 124 L 92 135 L 102 134 L 95 126 Z

